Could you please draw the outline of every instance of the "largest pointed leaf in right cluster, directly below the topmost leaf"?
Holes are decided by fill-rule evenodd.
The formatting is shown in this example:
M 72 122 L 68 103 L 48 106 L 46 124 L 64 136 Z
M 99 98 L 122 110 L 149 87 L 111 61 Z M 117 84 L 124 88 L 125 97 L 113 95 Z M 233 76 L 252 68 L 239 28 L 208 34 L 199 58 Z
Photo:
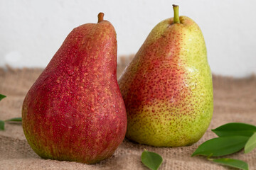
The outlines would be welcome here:
M 245 136 L 227 136 L 227 137 L 216 137 L 206 142 L 196 149 L 191 157 L 201 154 L 205 156 L 223 156 L 227 154 L 233 154 L 238 152 L 240 149 L 245 147 L 245 143 L 249 137 Z

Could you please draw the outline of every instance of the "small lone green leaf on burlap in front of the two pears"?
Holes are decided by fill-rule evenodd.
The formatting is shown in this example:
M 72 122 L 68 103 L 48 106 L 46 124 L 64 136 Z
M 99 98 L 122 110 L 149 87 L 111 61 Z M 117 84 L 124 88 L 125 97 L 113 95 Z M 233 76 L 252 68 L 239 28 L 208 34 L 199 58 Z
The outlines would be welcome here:
M 159 166 L 163 162 L 163 158 L 154 152 L 144 151 L 142 152 L 142 163 L 151 170 L 159 169 Z

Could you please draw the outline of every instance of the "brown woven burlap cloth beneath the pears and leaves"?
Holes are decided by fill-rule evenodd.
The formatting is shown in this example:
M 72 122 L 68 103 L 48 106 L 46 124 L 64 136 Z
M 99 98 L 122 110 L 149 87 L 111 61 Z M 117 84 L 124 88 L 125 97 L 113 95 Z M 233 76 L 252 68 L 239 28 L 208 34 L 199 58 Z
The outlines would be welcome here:
M 118 66 L 118 77 L 125 64 L 122 58 Z M 23 98 L 42 69 L 0 69 L 0 120 L 21 117 Z M 146 169 L 140 156 L 144 149 L 161 154 L 164 159 L 161 169 L 229 169 L 209 162 L 205 157 L 191 157 L 202 142 L 216 137 L 210 129 L 230 122 L 256 125 L 256 77 L 233 79 L 213 76 L 214 113 L 210 127 L 201 140 L 189 147 L 149 147 L 124 140 L 110 159 L 98 164 L 80 164 L 41 159 L 33 152 L 23 135 L 21 123 L 6 123 L 6 130 L 0 131 L 0 169 Z M 249 154 L 239 152 L 228 156 L 242 159 L 250 169 L 256 169 L 256 150 Z

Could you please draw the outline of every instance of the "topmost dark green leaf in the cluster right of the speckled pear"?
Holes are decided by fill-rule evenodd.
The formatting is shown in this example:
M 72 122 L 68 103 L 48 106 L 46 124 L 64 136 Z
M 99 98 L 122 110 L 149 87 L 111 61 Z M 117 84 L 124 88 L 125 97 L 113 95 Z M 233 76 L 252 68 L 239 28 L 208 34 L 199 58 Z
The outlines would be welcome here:
M 222 136 L 247 136 L 256 132 L 256 126 L 246 123 L 227 123 L 212 130 L 219 137 Z

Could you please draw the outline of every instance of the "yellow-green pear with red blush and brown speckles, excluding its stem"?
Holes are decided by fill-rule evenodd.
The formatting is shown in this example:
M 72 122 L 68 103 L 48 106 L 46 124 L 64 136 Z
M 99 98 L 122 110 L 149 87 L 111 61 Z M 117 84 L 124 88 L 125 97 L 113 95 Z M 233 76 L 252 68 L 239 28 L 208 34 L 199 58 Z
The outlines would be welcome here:
M 213 115 L 206 45 L 186 16 L 151 30 L 118 83 L 127 109 L 129 140 L 156 147 L 197 142 Z

